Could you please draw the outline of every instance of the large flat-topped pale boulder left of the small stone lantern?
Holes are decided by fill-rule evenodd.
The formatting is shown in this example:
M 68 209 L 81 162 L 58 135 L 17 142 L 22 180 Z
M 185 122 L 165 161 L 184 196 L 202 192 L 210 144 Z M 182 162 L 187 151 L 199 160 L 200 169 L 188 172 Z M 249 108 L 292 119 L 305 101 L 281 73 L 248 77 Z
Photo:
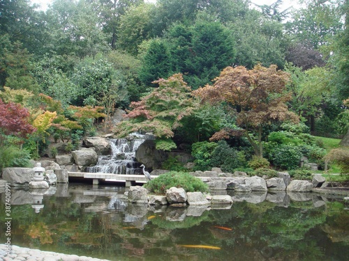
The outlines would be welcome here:
M 3 180 L 6 180 L 15 186 L 29 183 L 33 177 L 33 168 L 3 168 Z

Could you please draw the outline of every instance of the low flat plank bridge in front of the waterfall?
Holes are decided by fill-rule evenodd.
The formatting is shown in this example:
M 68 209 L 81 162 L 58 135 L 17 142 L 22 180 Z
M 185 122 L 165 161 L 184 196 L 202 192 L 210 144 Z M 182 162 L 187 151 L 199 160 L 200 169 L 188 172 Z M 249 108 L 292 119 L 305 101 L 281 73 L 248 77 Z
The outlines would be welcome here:
M 147 183 L 147 178 L 144 175 L 126 175 L 112 173 L 87 173 L 87 172 L 69 172 L 68 177 L 80 177 L 86 180 L 92 180 L 92 184 L 97 185 L 101 180 L 105 182 L 125 182 L 125 187 L 131 187 L 136 183 Z M 151 175 L 154 179 L 158 175 Z M 208 182 L 209 177 L 199 177 L 203 182 Z

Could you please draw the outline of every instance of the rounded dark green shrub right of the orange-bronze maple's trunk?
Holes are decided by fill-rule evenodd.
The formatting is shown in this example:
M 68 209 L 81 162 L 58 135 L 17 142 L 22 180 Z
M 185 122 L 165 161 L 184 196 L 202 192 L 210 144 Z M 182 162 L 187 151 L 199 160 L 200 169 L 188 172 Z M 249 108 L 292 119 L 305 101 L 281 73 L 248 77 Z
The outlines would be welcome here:
M 281 145 L 274 148 L 274 152 L 272 152 L 272 164 L 285 170 L 292 170 L 299 168 L 299 161 L 301 157 L 302 152 L 300 151 L 299 147 L 292 145 Z

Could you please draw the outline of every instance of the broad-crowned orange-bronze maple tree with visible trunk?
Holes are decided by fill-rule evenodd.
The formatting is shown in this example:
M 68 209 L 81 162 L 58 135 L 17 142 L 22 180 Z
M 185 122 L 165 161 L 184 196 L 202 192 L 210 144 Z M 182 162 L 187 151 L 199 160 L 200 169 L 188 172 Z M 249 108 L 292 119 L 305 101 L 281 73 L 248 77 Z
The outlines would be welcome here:
M 288 80 L 289 75 L 276 70 L 276 65 L 269 68 L 256 65 L 253 70 L 242 66 L 228 67 L 213 86 L 195 90 L 193 95 L 203 102 L 230 104 L 237 111 L 237 124 L 242 128 L 242 134 L 253 146 L 255 155 L 262 157 L 263 127 L 274 121 L 298 120 L 285 103 L 290 100 L 290 95 L 285 93 Z M 228 137 L 228 131 L 223 130 L 220 136 Z

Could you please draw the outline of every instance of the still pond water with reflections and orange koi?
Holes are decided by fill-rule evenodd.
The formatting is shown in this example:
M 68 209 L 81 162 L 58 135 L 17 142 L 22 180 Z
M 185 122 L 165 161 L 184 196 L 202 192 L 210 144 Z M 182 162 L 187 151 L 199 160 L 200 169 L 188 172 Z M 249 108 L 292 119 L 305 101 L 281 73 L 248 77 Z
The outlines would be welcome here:
M 231 194 L 231 206 L 207 209 L 131 205 L 124 192 L 71 183 L 44 195 L 12 189 L 11 243 L 107 260 L 349 260 L 343 196 Z M 1 193 L 2 221 L 4 202 Z

